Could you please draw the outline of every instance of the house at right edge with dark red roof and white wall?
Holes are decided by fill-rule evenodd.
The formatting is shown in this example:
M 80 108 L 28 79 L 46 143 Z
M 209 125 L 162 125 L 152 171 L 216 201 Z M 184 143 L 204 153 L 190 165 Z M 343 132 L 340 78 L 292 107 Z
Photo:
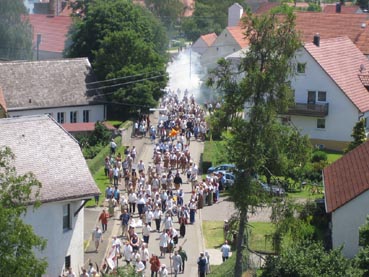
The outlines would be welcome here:
M 359 227 L 369 214 L 369 142 L 323 170 L 326 212 L 331 214 L 334 248 L 354 257 L 359 250 Z

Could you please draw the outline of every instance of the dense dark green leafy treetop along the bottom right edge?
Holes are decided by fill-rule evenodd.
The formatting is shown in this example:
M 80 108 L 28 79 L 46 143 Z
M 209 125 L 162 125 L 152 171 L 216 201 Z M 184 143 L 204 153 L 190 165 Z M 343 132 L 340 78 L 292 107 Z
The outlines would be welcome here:
M 293 242 L 280 255 L 267 257 L 261 276 L 362 276 L 341 250 L 326 252 L 320 243 Z

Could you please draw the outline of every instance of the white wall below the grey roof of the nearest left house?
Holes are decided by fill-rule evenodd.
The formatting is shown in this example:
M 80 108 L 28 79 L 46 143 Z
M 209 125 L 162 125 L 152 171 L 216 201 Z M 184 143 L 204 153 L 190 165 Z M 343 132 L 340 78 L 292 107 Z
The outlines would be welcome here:
M 63 205 L 71 204 L 71 229 L 63 230 Z M 53 202 L 42 204 L 33 210 L 29 207 L 24 221 L 33 226 L 34 232 L 47 239 L 47 246 L 42 253 L 37 252 L 39 258 L 46 258 L 48 268 L 45 276 L 59 276 L 64 269 L 66 256 L 71 256 L 71 266 L 77 270 L 84 264 L 83 232 L 84 210 L 81 209 L 76 217 L 74 212 L 81 206 L 82 201 Z

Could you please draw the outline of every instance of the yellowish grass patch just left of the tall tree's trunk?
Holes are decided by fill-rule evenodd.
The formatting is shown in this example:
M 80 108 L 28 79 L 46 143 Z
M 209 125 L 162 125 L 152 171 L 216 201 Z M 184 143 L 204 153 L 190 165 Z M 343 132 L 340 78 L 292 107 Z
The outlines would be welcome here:
M 205 238 L 205 248 L 219 248 L 224 243 L 223 221 L 202 222 L 203 236 Z

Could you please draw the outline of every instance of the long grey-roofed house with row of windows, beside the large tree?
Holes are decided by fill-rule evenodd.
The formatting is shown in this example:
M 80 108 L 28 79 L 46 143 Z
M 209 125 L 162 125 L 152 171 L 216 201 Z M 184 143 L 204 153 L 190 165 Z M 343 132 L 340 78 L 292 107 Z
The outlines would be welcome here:
M 59 123 L 104 121 L 87 58 L 0 63 L 7 115 L 49 114 Z

